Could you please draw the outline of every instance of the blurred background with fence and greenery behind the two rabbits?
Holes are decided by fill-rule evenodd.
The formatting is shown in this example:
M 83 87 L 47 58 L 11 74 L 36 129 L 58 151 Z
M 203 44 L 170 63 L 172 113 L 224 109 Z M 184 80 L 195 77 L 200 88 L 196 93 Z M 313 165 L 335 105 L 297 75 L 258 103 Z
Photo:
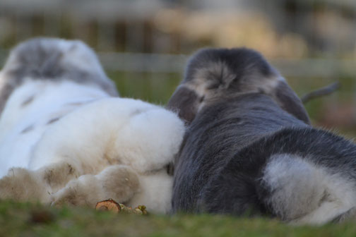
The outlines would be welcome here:
M 189 54 L 250 47 L 299 96 L 340 81 L 305 104 L 313 123 L 356 135 L 355 0 L 0 0 L 0 66 L 30 37 L 82 39 L 123 97 L 165 104 Z

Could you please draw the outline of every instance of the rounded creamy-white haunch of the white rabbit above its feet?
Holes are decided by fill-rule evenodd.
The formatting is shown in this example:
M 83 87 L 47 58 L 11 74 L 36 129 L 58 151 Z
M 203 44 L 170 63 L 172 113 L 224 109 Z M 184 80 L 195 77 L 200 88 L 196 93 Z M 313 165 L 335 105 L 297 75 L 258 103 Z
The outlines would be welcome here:
M 159 169 L 178 152 L 183 133 L 179 123 L 175 114 L 140 100 L 100 99 L 48 128 L 29 168 L 40 169 L 50 156 L 51 163 L 75 157 L 85 162 L 83 171 L 102 170 L 108 162 L 139 172 Z

